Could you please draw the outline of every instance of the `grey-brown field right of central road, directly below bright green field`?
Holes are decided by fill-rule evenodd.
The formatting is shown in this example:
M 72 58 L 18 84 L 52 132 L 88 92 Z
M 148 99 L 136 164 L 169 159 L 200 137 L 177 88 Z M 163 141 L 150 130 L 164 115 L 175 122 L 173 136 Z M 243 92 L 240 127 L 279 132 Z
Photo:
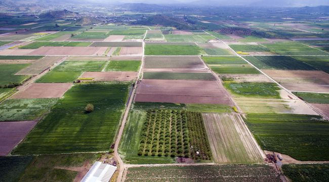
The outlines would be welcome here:
M 198 56 L 146 56 L 145 69 L 208 69 Z

